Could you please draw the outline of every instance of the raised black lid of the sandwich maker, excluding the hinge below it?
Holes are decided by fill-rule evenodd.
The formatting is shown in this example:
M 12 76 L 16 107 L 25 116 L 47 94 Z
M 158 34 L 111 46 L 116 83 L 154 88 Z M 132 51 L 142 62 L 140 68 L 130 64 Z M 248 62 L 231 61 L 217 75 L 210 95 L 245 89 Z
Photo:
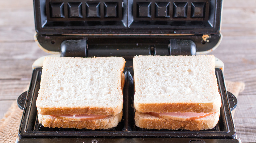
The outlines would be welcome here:
M 88 40 L 90 49 L 92 40 L 110 38 L 114 41 L 108 44 L 143 41 L 168 45 L 171 39 L 191 40 L 196 44 L 196 52 L 202 52 L 216 47 L 222 38 L 222 0 L 33 2 L 36 39 L 44 49 L 53 52 L 60 52 L 65 40 Z

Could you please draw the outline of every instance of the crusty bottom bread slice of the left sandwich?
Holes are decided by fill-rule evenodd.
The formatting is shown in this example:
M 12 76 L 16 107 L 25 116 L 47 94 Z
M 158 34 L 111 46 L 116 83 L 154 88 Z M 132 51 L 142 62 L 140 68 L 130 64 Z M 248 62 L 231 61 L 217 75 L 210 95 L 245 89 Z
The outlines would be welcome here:
M 77 128 L 77 129 L 109 129 L 116 127 L 121 121 L 123 113 L 109 116 L 103 119 L 95 119 L 88 121 L 68 121 L 54 118 L 50 115 L 38 114 L 38 121 L 45 127 L 52 128 Z

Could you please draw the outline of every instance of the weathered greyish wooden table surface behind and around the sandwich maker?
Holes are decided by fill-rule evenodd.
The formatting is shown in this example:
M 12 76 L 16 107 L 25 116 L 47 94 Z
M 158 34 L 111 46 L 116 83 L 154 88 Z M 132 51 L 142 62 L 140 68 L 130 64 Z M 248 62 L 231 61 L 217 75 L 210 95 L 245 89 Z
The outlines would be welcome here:
M 223 40 L 211 52 L 226 80 L 245 82 L 234 115 L 237 137 L 256 142 L 256 1 L 224 0 Z M 34 42 L 32 0 L 0 0 L 0 119 L 29 84 L 32 63 L 48 55 Z

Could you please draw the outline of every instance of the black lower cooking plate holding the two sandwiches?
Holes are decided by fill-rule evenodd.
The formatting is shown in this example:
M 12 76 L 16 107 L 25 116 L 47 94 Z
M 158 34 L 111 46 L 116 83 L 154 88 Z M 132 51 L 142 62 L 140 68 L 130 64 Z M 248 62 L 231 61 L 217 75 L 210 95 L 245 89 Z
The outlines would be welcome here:
M 232 141 L 236 137 L 234 123 L 230 112 L 229 101 L 227 98 L 227 91 L 224 84 L 223 73 L 220 69 L 217 68 L 215 69 L 215 73 L 218 81 L 219 92 L 222 99 L 222 107 L 220 108 L 220 119 L 218 124 L 213 129 L 202 131 L 165 129 L 155 130 L 142 129 L 135 126 L 133 108 L 133 68 L 131 67 L 126 67 L 124 69 L 125 85 L 123 90 L 123 119 L 117 125 L 117 127 L 103 130 L 44 127 L 38 123 L 38 112 L 36 108 L 36 98 L 40 88 L 41 73 L 42 68 L 36 68 L 34 69 L 32 74 L 32 81 L 27 94 L 26 102 L 24 104 L 24 113 L 19 129 L 19 137 L 21 138 L 20 141 L 22 141 L 22 138 L 25 138 L 24 140 L 26 141 L 28 141 L 26 138 L 48 138 L 48 141 L 50 141 L 49 138 L 91 138 L 91 140 L 93 138 L 105 138 L 103 139 L 105 141 L 107 138 L 203 138 L 218 139 L 219 141 L 220 139 L 231 139 Z M 54 140 L 52 141 L 54 142 Z M 126 142 L 129 141 L 133 142 L 132 140 L 127 140 Z M 237 140 L 235 139 L 235 141 Z

